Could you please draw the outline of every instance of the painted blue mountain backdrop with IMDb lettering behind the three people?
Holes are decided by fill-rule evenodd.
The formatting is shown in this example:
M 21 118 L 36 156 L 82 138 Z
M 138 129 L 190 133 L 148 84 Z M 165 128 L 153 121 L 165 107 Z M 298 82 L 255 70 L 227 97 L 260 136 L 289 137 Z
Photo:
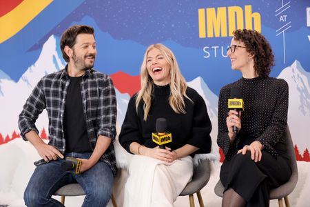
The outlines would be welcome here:
M 171 48 L 188 85 L 205 100 L 213 125 L 212 151 L 218 153 L 218 93 L 240 78 L 239 72 L 230 69 L 226 48 L 231 36 L 223 31 L 234 28 L 234 23 L 236 28 L 247 28 L 249 18 L 254 24 L 250 27 L 260 29 L 273 48 L 276 66 L 270 76 L 289 83 L 288 124 L 299 160 L 298 184 L 289 199 L 292 207 L 309 206 L 310 1 L 18 0 L 1 1 L 0 8 L 0 206 L 24 206 L 23 190 L 39 155 L 20 138 L 18 115 L 39 79 L 64 68 L 59 39 L 65 29 L 73 24 L 94 27 L 98 51 L 94 68 L 110 75 L 114 82 L 118 131 L 130 97 L 140 88 L 139 68 L 145 49 L 151 43 Z M 236 12 L 232 17 L 229 11 L 235 9 L 238 15 Z M 206 19 L 214 19 L 212 23 L 205 21 L 205 28 L 198 15 L 202 10 Z M 208 10 L 223 13 L 208 16 Z M 11 15 L 16 13 L 33 14 L 33 18 Z M 210 27 L 217 37 L 209 37 Z M 200 37 L 203 32 L 208 37 Z M 36 124 L 41 137 L 48 141 L 45 110 Z M 114 146 L 124 152 L 117 141 Z M 220 206 L 221 199 L 214 195 L 220 164 L 211 163 L 209 183 L 201 190 L 205 206 Z M 83 197 L 66 197 L 66 206 L 81 206 L 82 202 Z M 178 197 L 174 206 L 189 206 L 188 197 Z M 277 201 L 271 201 L 270 206 L 278 206 Z

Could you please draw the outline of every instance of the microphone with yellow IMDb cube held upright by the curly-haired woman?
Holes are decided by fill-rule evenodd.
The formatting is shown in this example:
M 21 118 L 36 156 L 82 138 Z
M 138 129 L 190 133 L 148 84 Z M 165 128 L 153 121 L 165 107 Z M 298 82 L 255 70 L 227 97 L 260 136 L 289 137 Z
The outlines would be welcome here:
M 230 99 L 228 99 L 228 108 L 239 111 L 239 110 L 244 110 L 244 104 L 243 104 L 243 99 L 241 90 L 239 87 L 232 87 L 230 89 Z M 237 135 L 238 128 L 236 126 L 233 126 L 233 131 L 234 131 L 234 136 Z

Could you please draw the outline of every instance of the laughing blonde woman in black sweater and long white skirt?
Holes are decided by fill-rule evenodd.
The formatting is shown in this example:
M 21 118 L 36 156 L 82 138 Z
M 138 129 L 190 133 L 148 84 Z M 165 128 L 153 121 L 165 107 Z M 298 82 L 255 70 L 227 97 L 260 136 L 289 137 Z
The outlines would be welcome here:
M 172 142 L 152 141 L 156 119 L 167 120 Z M 163 44 L 147 48 L 141 90 L 128 103 L 119 141 L 134 154 L 125 185 L 124 206 L 173 206 L 192 179 L 192 157 L 211 150 L 211 121 L 205 101 L 187 87 L 176 57 Z

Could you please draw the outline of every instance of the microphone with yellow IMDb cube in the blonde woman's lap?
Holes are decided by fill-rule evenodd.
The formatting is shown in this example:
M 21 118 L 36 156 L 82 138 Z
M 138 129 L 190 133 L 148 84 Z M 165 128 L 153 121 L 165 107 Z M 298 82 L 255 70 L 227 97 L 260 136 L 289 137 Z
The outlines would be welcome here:
M 152 141 L 165 149 L 165 144 L 172 142 L 171 133 L 167 132 L 167 120 L 165 118 L 156 119 L 156 132 L 152 133 Z

